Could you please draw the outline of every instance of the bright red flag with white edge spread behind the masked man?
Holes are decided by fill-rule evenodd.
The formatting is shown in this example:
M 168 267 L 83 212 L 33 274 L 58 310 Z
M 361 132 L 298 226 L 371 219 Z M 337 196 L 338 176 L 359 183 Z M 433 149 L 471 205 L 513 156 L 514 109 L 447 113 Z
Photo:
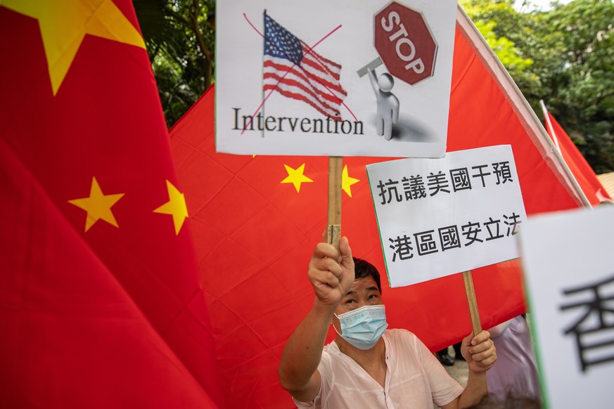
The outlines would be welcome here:
M 231 408 L 293 408 L 277 366 L 314 299 L 307 263 L 326 226 L 327 157 L 215 152 L 210 89 L 171 130 L 188 195 L 203 285 Z M 580 206 L 528 104 L 462 13 L 457 20 L 448 151 L 511 144 L 527 214 Z M 365 164 L 345 157 L 342 233 L 355 256 L 385 273 Z M 526 311 L 518 261 L 473 271 L 482 327 Z M 433 351 L 471 332 L 460 274 L 391 289 L 390 327 L 416 333 Z M 335 337 L 331 330 L 328 342 Z

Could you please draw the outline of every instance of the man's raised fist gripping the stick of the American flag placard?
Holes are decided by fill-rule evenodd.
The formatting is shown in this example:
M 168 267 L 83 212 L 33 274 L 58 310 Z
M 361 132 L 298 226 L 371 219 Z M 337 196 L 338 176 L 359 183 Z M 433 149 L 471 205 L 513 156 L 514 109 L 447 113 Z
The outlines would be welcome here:
M 354 283 L 354 259 L 347 238 L 341 238 L 339 250 L 328 243 L 318 243 L 307 275 L 322 303 L 339 304 Z

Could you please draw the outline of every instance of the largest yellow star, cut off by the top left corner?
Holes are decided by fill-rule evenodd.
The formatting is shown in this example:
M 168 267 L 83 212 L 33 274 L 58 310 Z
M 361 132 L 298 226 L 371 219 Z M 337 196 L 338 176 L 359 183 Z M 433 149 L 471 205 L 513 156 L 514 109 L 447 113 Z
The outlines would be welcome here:
M 0 4 L 39 20 L 54 96 L 85 34 L 145 48 L 141 34 L 111 0 L 1 0 Z

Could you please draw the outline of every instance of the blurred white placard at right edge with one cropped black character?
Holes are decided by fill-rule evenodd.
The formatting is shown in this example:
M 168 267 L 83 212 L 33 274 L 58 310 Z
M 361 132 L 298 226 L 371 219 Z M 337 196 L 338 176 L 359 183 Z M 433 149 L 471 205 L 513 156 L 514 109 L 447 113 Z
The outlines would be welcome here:
M 612 232 L 614 207 L 604 206 L 534 217 L 520 234 L 549 408 L 613 407 Z

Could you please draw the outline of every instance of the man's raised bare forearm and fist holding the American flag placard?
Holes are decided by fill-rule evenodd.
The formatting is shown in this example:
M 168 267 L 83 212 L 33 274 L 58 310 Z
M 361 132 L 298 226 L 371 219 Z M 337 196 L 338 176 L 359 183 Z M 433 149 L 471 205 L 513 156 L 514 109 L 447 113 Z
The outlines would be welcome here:
M 309 262 L 308 276 L 316 293 L 314 305 L 284 346 L 277 370 L 281 387 L 301 402 L 310 402 L 318 394 L 321 377 L 317 368 L 328 325 L 354 283 L 354 261 L 347 238 L 341 238 L 339 250 L 319 243 Z

